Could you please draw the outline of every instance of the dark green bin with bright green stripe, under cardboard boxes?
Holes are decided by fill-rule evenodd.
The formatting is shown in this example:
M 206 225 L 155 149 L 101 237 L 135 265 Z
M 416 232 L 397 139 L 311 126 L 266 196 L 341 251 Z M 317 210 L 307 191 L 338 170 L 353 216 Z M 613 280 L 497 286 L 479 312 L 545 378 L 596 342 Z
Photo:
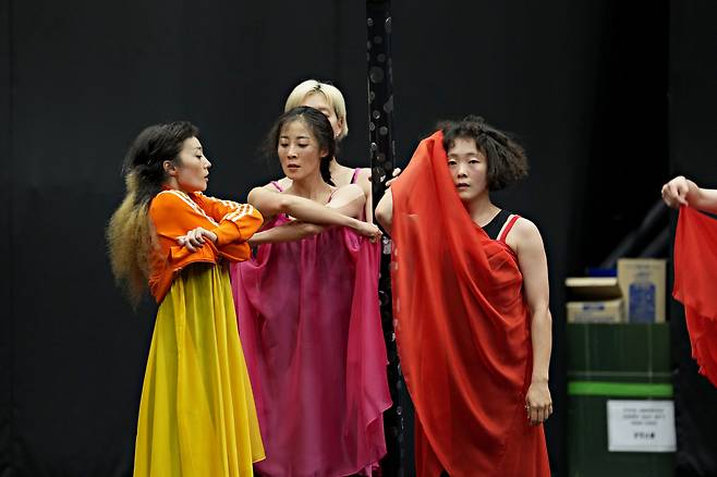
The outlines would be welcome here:
M 568 323 L 571 477 L 671 476 L 673 452 L 609 452 L 608 400 L 671 400 L 667 323 Z

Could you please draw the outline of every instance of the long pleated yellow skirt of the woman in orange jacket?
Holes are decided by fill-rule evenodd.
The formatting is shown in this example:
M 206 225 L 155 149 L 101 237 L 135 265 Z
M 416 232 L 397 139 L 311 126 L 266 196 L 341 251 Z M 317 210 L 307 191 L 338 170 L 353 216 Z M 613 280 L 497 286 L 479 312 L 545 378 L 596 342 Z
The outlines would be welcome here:
M 265 457 L 226 268 L 195 264 L 157 313 L 135 477 L 243 477 Z

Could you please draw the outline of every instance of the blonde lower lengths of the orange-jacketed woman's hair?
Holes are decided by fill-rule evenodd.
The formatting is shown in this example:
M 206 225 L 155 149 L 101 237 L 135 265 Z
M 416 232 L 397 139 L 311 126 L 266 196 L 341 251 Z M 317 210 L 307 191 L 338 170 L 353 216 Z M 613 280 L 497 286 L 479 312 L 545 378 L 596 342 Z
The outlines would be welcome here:
M 107 225 L 107 245 L 114 280 L 136 306 L 147 288 L 156 241 L 148 215 L 151 198 L 139 197 L 136 173 L 129 173 L 125 183 L 126 196 Z

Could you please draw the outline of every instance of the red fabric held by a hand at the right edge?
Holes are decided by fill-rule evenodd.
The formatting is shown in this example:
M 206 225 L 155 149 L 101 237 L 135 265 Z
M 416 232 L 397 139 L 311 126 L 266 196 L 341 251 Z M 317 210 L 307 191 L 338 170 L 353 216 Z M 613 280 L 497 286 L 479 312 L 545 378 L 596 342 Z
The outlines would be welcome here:
M 717 386 L 717 220 L 690 207 L 677 224 L 672 295 L 684 305 L 700 372 Z

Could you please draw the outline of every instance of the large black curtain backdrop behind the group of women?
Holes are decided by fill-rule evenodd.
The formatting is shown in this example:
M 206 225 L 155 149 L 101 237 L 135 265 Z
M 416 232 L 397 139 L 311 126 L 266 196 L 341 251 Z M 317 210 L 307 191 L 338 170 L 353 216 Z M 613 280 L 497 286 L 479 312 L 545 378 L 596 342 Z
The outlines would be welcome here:
M 531 178 L 495 198 L 538 224 L 548 253 L 556 476 L 567 475 L 564 277 L 599 262 L 670 172 L 714 178 L 705 158 L 715 143 L 694 140 L 694 131 L 714 140 L 714 127 L 693 123 L 693 109 L 703 119 L 714 110 L 701 103 L 715 98 L 714 48 L 701 44 L 714 10 L 691 7 L 707 4 L 672 2 L 670 12 L 666 0 L 393 1 L 399 162 L 437 120 L 467 113 L 514 132 L 531 157 Z M 364 9 L 332 0 L 0 0 L 9 205 L 0 213 L 0 476 L 131 475 L 154 306 L 130 308 L 104 241 L 130 140 L 151 123 L 193 121 L 214 162 L 209 192 L 241 200 L 278 174 L 256 150 L 287 94 L 302 80 L 330 78 L 349 107 L 341 158 L 368 166 Z M 670 89 L 670 131 L 681 132 L 672 157 L 679 148 L 684 158 L 676 163 L 666 94 L 678 17 L 682 36 L 669 50 L 684 61 L 702 54 L 679 76 L 701 81 L 702 93 L 685 80 L 678 108 L 680 90 Z

